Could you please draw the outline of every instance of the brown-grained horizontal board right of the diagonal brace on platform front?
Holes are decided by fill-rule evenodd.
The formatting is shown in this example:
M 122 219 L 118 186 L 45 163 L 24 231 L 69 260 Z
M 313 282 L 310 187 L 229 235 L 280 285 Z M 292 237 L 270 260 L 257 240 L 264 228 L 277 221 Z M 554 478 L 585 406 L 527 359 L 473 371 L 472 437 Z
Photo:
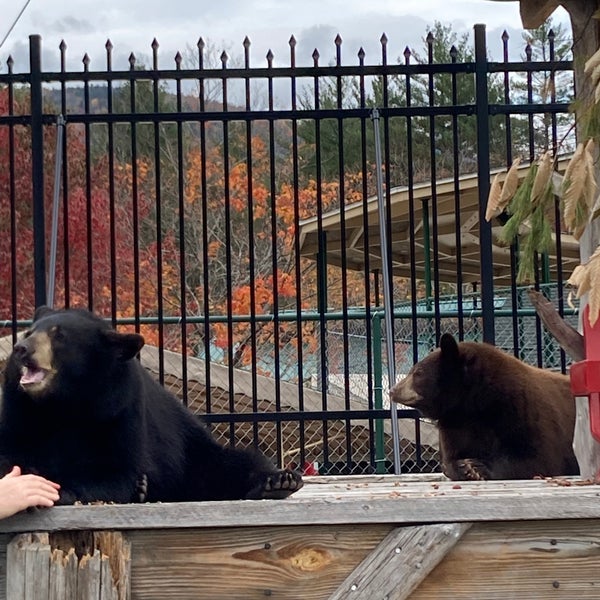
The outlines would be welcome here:
M 597 600 L 600 521 L 478 523 L 411 600 Z

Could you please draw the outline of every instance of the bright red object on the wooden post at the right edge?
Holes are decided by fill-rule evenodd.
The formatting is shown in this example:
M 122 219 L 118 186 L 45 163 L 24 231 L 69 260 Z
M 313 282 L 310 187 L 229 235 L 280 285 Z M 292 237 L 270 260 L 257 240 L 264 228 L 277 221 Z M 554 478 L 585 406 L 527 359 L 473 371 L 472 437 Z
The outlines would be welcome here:
M 600 319 L 590 325 L 590 307 L 583 312 L 585 360 L 571 365 L 571 391 L 574 396 L 587 396 L 590 406 L 590 429 L 600 442 Z

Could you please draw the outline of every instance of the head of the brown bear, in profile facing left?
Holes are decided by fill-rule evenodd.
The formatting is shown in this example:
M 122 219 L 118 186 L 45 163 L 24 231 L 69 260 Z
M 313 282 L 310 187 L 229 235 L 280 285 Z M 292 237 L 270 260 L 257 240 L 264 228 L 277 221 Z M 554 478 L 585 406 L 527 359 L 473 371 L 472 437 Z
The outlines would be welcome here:
M 445 333 L 440 347 L 412 367 L 390 390 L 390 398 L 418 409 L 424 417 L 440 419 L 460 402 L 467 362 L 456 340 Z

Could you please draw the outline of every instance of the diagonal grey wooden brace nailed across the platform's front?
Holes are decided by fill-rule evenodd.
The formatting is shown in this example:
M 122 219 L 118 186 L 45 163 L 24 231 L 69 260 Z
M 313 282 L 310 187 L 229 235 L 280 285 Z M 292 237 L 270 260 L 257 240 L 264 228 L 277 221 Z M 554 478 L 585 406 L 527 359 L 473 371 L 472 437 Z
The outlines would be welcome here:
M 470 526 L 470 523 L 447 523 L 392 530 L 329 600 L 408 598 Z

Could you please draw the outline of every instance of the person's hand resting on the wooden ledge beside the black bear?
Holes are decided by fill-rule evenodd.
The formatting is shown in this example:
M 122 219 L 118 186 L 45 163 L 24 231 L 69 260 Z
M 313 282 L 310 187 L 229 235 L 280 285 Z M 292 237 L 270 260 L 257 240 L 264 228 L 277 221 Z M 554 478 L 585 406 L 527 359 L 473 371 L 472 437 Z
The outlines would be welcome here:
M 39 475 L 21 475 L 20 467 L 0 479 L 0 519 L 30 506 L 53 506 L 60 485 Z

